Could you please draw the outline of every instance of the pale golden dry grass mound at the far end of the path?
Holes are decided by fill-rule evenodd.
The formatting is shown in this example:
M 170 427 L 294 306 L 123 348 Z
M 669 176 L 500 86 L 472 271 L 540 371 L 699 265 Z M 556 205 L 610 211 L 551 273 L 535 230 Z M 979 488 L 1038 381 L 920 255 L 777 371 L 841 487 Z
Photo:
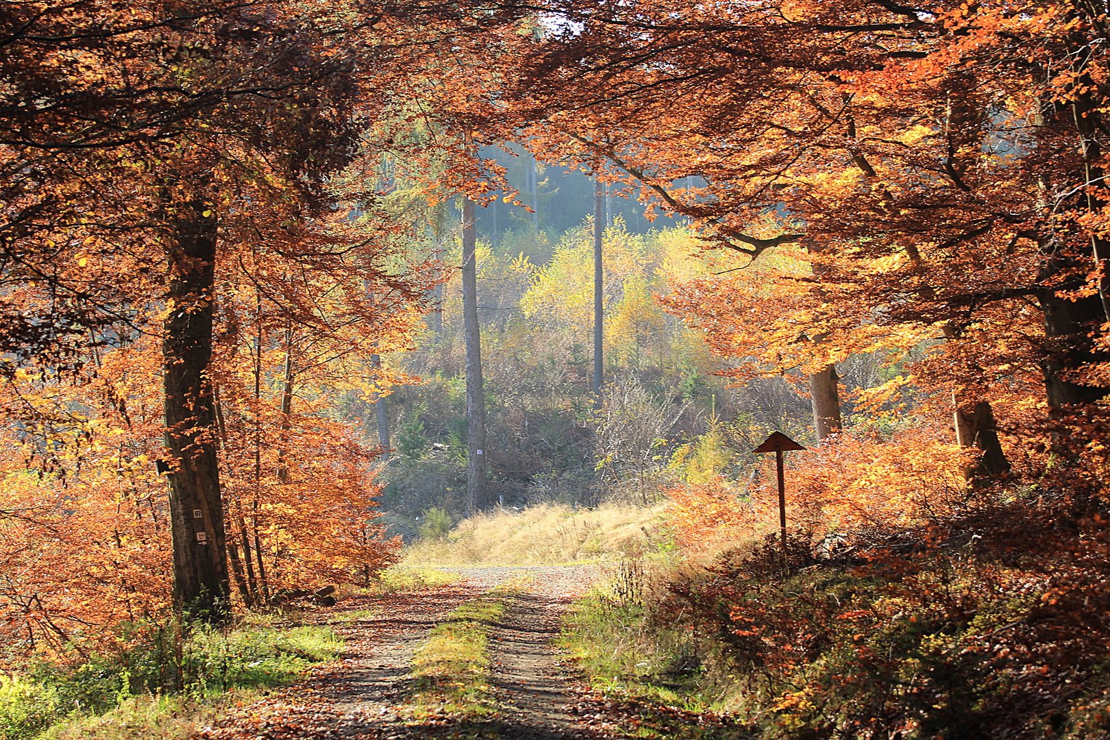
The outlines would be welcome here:
M 578 509 L 541 505 L 464 519 L 442 538 L 405 548 L 403 566 L 552 565 L 656 550 L 663 506 Z

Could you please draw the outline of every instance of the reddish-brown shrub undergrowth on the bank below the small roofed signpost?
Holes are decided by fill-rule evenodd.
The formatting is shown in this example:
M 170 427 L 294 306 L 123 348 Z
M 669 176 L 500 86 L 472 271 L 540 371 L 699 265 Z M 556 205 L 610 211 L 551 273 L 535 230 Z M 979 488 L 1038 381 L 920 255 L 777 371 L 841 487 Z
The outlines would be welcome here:
M 722 711 L 743 737 L 1110 737 L 1110 531 L 1019 515 L 850 557 L 794 541 L 789 571 L 774 537 L 657 569 L 643 598 L 579 601 L 564 647 L 606 697 Z

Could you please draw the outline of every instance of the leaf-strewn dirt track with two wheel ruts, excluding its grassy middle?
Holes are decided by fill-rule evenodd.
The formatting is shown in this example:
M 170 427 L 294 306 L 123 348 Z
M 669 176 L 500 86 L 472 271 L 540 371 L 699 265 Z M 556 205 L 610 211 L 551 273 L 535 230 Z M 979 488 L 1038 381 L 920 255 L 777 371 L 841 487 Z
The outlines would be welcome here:
M 317 667 L 303 680 L 272 691 L 261 701 L 235 708 L 209 740 L 367 738 L 407 740 L 431 737 L 597 738 L 572 706 L 579 698 L 559 667 L 551 640 L 574 596 L 588 588 L 587 566 L 445 569 L 460 580 L 448 586 L 356 597 L 319 614 L 345 640 L 339 660 Z M 478 726 L 454 727 L 435 720 L 406 722 L 401 714 L 411 693 L 411 665 L 430 630 L 460 604 L 512 582 L 503 617 L 490 631 L 492 686 L 497 717 Z

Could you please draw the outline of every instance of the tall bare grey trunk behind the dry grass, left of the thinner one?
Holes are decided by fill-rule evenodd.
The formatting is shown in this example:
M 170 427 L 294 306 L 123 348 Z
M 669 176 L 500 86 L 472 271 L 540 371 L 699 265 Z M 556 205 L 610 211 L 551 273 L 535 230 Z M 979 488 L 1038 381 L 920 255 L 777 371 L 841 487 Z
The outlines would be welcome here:
M 466 343 L 466 506 L 471 514 L 486 504 L 485 395 L 482 387 L 482 336 L 475 259 L 474 201 L 463 196 L 463 337 Z

